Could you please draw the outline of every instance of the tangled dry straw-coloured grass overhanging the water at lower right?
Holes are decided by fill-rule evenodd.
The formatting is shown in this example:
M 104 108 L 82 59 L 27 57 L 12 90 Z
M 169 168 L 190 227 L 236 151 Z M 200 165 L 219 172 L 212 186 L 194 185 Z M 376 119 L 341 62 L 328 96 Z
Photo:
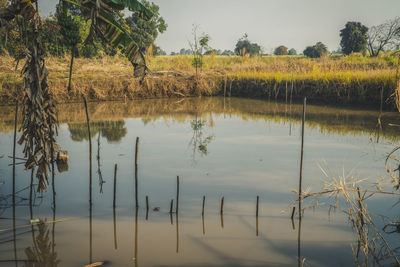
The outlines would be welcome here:
M 327 170 L 321 168 L 329 182 L 325 183 L 322 191 L 314 193 L 302 192 L 303 201 L 311 200 L 313 204 L 303 209 L 328 205 L 331 208 L 343 211 L 356 234 L 356 242 L 352 245 L 353 256 L 357 266 L 398 266 L 400 265 L 400 253 L 393 239 L 388 239 L 388 234 L 398 232 L 400 225 L 380 214 L 372 213 L 367 206 L 367 200 L 379 196 L 400 196 L 395 189 L 398 188 L 398 180 L 380 178 L 373 183 L 374 188 L 369 188 L 366 180 L 359 180 L 350 174 L 333 176 Z M 395 183 L 395 186 L 390 187 Z M 362 189 L 362 188 L 367 189 Z M 385 190 L 387 188 L 389 190 Z M 297 192 L 295 191 L 296 195 Z M 327 196 L 334 203 L 320 202 L 320 198 Z M 344 201 L 343 201 L 344 200 Z M 392 206 L 393 207 L 393 206 Z M 330 208 L 330 209 L 331 209 Z M 381 207 L 387 209 L 387 207 Z M 381 225 L 384 225 L 383 227 Z M 394 228 L 395 231 L 388 231 Z

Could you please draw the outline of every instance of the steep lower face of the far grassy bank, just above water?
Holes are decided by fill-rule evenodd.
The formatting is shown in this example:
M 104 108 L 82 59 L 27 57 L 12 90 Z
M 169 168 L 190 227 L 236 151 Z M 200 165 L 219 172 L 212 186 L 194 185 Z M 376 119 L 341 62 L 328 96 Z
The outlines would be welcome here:
M 7 75 L 5 75 L 7 76 Z M 321 77 L 272 74 L 208 74 L 199 76 L 164 74 L 147 77 L 143 82 L 130 75 L 119 77 L 86 77 L 73 80 L 68 92 L 67 81 L 49 79 L 54 99 L 59 103 L 79 102 L 82 96 L 89 101 L 115 101 L 148 98 L 181 98 L 196 96 L 245 97 L 278 100 L 290 103 L 307 97 L 310 101 L 330 105 L 368 106 L 395 110 L 394 75 L 358 77 Z M 0 105 L 10 105 L 23 99 L 22 78 L 0 78 Z

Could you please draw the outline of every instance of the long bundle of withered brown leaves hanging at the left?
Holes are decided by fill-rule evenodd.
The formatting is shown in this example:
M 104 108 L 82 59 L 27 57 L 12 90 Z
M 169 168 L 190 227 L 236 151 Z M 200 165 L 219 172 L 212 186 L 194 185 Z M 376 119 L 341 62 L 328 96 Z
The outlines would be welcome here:
M 54 135 L 57 134 L 57 108 L 47 85 L 48 71 L 45 67 L 44 50 L 40 43 L 40 17 L 31 1 L 14 1 L 9 7 L 0 10 L 0 19 L 11 21 L 22 16 L 32 31 L 25 50 L 26 62 L 21 74 L 24 78 L 24 100 L 22 111 L 22 136 L 18 143 L 24 144 L 27 158 L 25 169 L 38 166 L 36 177 L 38 191 L 47 188 L 50 163 L 54 149 L 57 148 Z M 0 25 L 1 26 L 1 25 Z

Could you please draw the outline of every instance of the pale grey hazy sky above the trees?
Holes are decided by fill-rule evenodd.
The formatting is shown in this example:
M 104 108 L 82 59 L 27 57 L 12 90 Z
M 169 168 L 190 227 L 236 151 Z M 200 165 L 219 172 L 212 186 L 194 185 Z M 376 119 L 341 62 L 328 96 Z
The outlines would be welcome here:
M 150 0 L 151 1 L 151 0 Z M 193 24 L 211 37 L 215 49 L 233 50 L 245 33 L 264 53 L 279 45 L 302 52 L 323 42 L 340 47 L 339 32 L 347 21 L 371 27 L 400 16 L 400 0 L 152 0 L 168 29 L 156 44 L 167 53 L 189 48 Z M 39 0 L 42 15 L 54 12 L 58 0 Z

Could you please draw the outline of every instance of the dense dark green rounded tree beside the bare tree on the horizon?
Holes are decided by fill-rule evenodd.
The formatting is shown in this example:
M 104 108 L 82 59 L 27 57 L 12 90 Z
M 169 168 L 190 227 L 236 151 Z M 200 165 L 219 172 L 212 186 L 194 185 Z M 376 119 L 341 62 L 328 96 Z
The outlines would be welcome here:
M 367 48 L 368 28 L 360 22 L 349 21 L 340 31 L 340 45 L 344 54 L 365 52 Z

